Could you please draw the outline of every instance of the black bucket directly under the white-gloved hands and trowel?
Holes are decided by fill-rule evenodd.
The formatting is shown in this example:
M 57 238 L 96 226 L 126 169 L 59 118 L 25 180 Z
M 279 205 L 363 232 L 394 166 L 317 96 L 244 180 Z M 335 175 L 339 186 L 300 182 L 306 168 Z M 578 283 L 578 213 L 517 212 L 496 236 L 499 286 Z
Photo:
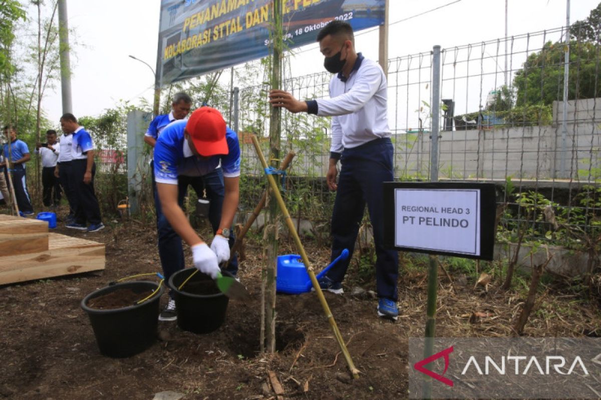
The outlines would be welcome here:
M 209 275 L 198 272 L 182 288 L 178 287 L 196 269 L 186 268 L 175 272 L 169 278 L 169 287 L 175 294 L 175 308 L 177 309 L 177 326 L 183 330 L 194 333 L 209 333 L 219 329 L 225 320 L 228 297 L 219 292 L 216 294 L 194 294 L 186 292 L 186 285 L 194 282 L 211 281 Z M 231 276 L 227 271 L 223 275 Z

